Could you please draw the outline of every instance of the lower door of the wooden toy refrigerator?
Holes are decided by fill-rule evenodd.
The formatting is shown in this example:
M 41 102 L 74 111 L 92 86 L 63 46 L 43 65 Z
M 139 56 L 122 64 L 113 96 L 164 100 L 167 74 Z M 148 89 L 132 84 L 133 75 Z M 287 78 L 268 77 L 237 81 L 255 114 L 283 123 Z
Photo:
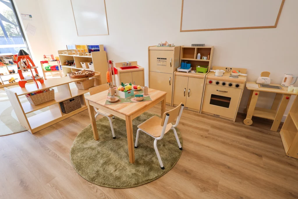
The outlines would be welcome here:
M 150 88 L 167 92 L 166 103 L 172 103 L 173 74 L 149 72 Z

